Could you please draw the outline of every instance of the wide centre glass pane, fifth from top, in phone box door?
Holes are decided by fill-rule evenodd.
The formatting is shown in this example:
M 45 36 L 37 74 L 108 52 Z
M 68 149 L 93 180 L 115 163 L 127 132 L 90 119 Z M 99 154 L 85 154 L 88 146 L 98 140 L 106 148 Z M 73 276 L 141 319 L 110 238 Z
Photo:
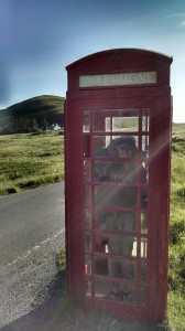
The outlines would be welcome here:
M 98 210 L 95 212 L 96 227 L 105 231 L 137 232 L 137 213 Z

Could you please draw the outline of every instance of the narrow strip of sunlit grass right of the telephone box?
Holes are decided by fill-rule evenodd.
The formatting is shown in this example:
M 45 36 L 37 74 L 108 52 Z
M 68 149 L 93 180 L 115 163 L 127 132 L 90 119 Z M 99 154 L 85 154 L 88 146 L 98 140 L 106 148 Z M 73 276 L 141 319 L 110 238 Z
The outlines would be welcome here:
M 168 322 L 185 330 L 185 125 L 173 126 Z

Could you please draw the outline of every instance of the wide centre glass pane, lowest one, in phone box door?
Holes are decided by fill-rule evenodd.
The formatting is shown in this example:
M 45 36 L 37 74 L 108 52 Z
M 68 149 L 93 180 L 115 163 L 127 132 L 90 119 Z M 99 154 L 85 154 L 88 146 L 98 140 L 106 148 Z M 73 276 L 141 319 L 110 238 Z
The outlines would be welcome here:
M 99 299 L 120 301 L 127 305 L 137 302 L 137 288 L 134 285 L 121 284 L 108 280 L 95 280 L 95 296 Z

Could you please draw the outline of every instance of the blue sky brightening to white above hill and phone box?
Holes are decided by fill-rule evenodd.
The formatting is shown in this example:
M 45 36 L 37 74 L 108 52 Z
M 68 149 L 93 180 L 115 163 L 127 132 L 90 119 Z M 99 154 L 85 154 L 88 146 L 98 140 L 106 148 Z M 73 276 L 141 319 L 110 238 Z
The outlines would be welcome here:
M 175 122 L 185 122 L 184 0 L 0 0 L 0 109 L 66 94 L 66 65 L 109 49 L 173 56 Z

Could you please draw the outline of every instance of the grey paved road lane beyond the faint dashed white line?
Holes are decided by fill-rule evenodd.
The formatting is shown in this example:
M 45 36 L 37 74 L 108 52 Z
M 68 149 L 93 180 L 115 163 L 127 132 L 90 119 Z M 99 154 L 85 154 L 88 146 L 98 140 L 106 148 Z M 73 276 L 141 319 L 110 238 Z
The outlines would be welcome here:
M 0 199 L 0 268 L 64 227 L 64 184 Z

